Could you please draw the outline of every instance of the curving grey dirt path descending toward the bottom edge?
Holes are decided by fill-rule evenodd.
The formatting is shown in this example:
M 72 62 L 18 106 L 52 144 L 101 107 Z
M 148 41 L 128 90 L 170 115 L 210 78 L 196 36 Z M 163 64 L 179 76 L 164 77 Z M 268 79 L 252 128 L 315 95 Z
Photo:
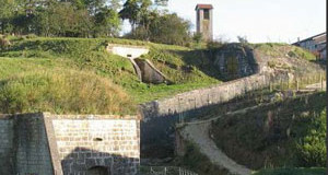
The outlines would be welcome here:
M 227 158 L 209 137 L 209 127 L 211 122 L 200 122 L 186 126 L 181 135 L 185 139 L 196 143 L 200 152 L 207 155 L 213 164 L 226 168 L 231 174 L 249 175 L 251 170 L 242 166 Z

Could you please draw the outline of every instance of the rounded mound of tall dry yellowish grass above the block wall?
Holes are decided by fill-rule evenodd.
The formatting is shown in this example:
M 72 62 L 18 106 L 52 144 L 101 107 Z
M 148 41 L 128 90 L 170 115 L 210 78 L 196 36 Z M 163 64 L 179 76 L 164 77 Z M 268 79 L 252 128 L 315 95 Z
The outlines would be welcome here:
M 1 113 L 136 114 L 129 96 L 109 80 L 66 70 L 15 74 L 0 81 Z

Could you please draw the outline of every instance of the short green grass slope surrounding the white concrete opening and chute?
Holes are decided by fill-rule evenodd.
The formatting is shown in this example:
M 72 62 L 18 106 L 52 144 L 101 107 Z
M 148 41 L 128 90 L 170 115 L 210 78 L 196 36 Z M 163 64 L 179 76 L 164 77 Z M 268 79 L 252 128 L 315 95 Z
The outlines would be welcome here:
M 45 69 L 60 67 L 92 71 L 124 88 L 137 103 L 171 96 L 180 92 L 220 83 L 211 60 L 201 50 L 186 47 L 159 45 L 138 40 L 116 38 L 11 38 L 13 44 L 0 52 L 1 57 L 30 59 L 28 65 L 51 62 Z M 174 84 L 152 85 L 139 82 L 132 65 L 126 58 L 106 52 L 107 43 L 145 45 L 150 48 L 148 59 L 164 72 Z M 15 60 L 20 62 L 20 60 Z M 207 62 L 207 65 L 204 65 Z M 0 61 L 0 67 L 3 62 Z M 8 61 L 5 62 L 8 65 Z M 22 66 L 12 69 L 21 69 Z M 211 69 L 204 69 L 210 66 Z M 3 66 L 5 67 L 5 66 Z M 24 69 L 24 68 L 23 68 Z M 204 71 L 206 70 L 206 71 Z M 1 71 L 1 70 L 0 70 Z M 22 70 L 24 71 L 24 70 Z

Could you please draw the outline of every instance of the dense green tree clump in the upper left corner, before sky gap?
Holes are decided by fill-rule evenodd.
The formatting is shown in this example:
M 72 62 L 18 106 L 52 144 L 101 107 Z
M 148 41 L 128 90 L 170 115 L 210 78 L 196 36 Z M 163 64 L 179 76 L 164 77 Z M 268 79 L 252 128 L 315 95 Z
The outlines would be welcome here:
M 0 27 L 2 34 L 116 36 L 118 8 L 119 0 L 1 0 Z

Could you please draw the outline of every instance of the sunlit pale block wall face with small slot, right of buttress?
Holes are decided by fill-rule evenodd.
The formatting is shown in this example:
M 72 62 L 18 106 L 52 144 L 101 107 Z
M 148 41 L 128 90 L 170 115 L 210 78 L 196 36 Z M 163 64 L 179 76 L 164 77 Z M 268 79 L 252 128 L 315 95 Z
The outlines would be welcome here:
M 63 174 L 89 175 L 105 167 L 110 175 L 137 174 L 139 121 L 132 119 L 54 119 Z

